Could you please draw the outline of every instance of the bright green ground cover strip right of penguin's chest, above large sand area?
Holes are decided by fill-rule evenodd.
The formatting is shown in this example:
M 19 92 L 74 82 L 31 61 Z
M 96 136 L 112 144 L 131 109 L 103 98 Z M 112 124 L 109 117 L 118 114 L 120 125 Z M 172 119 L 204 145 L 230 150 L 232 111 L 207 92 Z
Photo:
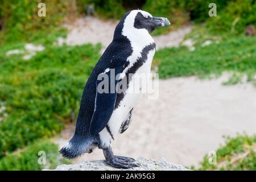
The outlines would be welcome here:
M 162 59 L 159 77 L 220 75 L 224 71 L 256 73 L 256 38 L 239 36 L 197 47 L 195 51 L 166 48 L 156 54 Z

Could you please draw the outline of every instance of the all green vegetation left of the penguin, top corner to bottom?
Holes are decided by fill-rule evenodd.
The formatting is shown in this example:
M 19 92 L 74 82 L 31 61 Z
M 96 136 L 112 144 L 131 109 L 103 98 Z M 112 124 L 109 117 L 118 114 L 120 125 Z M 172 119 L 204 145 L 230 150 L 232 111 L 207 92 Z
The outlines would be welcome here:
M 69 1 L 46 1 L 47 16 L 39 17 L 39 2 L 0 0 L 0 106 L 5 106 L 0 170 L 38 170 L 64 162 L 55 144 L 42 141 L 75 120 L 83 86 L 100 56 L 100 45 L 54 46 L 67 34 L 59 25 L 73 7 Z M 44 50 L 24 60 L 30 53 L 27 42 Z M 14 49 L 20 53 L 6 55 Z M 46 166 L 37 163 L 41 150 L 47 153 Z

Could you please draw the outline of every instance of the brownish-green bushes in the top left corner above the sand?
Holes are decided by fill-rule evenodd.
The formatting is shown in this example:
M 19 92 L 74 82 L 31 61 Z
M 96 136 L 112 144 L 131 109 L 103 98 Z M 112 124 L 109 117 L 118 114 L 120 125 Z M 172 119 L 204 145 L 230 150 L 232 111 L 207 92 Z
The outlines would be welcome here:
M 46 37 L 55 30 L 71 11 L 70 1 L 46 0 L 47 15 L 38 16 L 39 0 L 4 1 L 0 0 L 0 22 L 3 30 L 0 32 L 0 44 L 3 42 L 18 42 L 20 40 L 34 41 L 37 36 Z

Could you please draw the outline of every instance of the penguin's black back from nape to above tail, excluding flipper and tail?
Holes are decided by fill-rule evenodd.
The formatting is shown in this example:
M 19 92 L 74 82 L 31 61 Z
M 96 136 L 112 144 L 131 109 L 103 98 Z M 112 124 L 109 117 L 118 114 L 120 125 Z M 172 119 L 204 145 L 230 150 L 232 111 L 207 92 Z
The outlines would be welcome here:
M 129 13 L 130 11 L 126 13 L 117 24 L 112 43 L 106 48 L 86 82 L 76 123 L 75 134 L 77 135 L 84 135 L 84 132 L 88 132 L 94 111 L 94 102 L 96 98 L 95 83 L 98 75 L 104 72 L 107 68 L 115 68 L 117 64 L 126 64 L 127 57 L 133 52 L 130 40 L 122 35 L 123 23 Z

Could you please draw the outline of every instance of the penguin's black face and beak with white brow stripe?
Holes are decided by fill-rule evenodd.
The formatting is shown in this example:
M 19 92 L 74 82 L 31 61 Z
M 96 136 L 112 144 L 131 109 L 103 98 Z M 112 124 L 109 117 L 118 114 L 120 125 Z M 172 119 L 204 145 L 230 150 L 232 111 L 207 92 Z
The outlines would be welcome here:
M 134 28 L 144 28 L 148 33 L 151 33 L 158 27 L 164 27 L 171 24 L 167 18 L 155 17 L 142 10 L 133 10 L 132 12 L 134 11 L 136 13 L 134 18 Z

